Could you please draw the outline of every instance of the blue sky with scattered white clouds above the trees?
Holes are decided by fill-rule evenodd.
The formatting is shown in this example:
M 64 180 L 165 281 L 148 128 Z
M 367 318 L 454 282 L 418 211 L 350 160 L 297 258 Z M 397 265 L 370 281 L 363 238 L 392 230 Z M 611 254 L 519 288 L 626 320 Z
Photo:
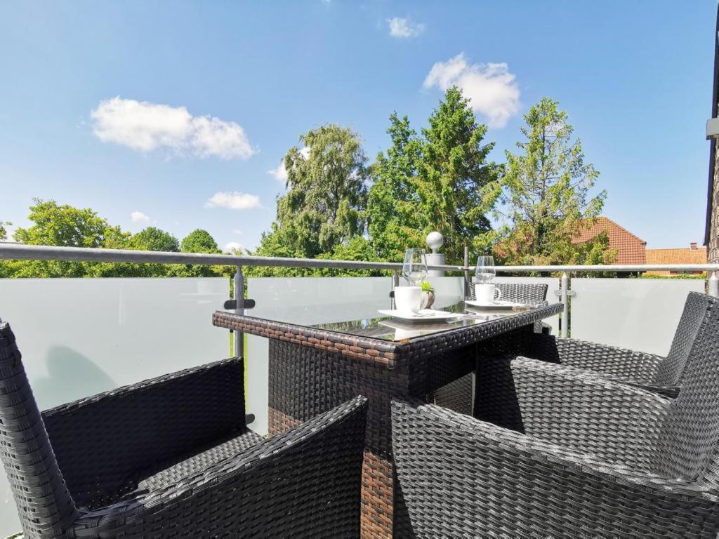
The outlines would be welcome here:
M 203 228 L 252 248 L 283 190 L 267 171 L 300 134 L 348 124 L 373 159 L 390 113 L 419 129 L 459 82 L 495 160 L 532 103 L 559 100 L 605 215 L 649 247 L 688 246 L 703 239 L 715 9 L 3 0 L 0 219 L 24 226 L 32 197 L 55 198 L 130 231 Z

